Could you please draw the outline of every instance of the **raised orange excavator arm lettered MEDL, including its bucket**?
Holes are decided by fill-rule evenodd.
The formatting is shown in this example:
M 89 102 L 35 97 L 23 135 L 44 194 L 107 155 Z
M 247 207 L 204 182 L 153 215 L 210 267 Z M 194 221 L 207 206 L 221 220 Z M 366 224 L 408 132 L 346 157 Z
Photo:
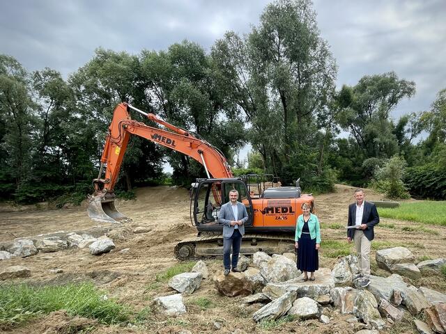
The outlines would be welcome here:
M 130 118 L 130 109 L 137 111 L 171 131 L 150 127 Z M 197 138 L 190 132 L 157 118 L 152 113 L 144 113 L 130 104 L 121 103 L 116 106 L 113 120 L 105 141 L 100 159 L 98 178 L 93 180 L 95 192 L 89 196 L 87 212 L 95 221 L 121 222 L 128 220 L 114 206 L 114 185 L 131 135 L 146 138 L 166 148 L 181 152 L 202 164 L 208 177 L 233 177 L 224 155 L 210 143 Z M 105 168 L 105 170 L 104 170 Z M 102 174 L 105 174 L 102 177 Z

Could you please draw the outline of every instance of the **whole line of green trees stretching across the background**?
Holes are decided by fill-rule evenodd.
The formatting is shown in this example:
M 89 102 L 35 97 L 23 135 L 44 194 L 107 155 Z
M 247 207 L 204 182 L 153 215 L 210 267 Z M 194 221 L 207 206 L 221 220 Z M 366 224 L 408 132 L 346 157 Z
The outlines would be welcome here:
M 205 138 L 236 173 L 272 173 L 282 184 L 301 177 L 312 191 L 346 182 L 445 199 L 446 89 L 428 111 L 394 120 L 397 104 L 415 95 L 413 81 L 371 74 L 337 90 L 336 76 L 309 0 L 268 4 L 249 33 L 229 31 L 210 51 L 187 40 L 139 54 L 99 48 L 68 79 L 0 55 L 0 197 L 84 199 L 114 107 L 129 102 Z M 247 143 L 252 152 L 240 161 Z M 164 162 L 174 184 L 206 175 L 193 159 L 134 137 L 117 191 L 162 182 Z

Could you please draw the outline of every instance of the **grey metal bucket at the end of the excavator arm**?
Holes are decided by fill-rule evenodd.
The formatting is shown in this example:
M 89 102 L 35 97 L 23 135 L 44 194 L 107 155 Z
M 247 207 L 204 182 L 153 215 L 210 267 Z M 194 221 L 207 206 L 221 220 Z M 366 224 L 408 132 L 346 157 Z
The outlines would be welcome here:
M 93 221 L 102 223 L 128 223 L 132 221 L 121 212 L 118 212 L 114 206 L 115 196 L 112 194 L 100 194 L 98 196 L 89 196 L 89 205 L 86 212 Z

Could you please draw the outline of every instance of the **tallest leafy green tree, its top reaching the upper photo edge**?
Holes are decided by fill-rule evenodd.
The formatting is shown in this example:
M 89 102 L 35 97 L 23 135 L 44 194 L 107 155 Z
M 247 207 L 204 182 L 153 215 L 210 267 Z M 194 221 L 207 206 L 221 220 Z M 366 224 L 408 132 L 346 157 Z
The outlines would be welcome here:
M 259 26 L 243 38 L 226 33 L 212 56 L 221 86 L 251 125 L 249 141 L 266 169 L 285 184 L 322 173 L 327 138 L 318 118 L 328 115 L 337 69 L 311 2 L 270 3 Z

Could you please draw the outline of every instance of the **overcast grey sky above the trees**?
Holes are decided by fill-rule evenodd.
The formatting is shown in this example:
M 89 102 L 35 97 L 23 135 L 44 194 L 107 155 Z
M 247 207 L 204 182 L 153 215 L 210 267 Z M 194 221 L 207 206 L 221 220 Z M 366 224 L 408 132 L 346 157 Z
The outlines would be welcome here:
M 139 54 L 184 39 L 205 49 L 225 31 L 248 33 L 267 0 L 0 1 L 0 53 L 27 70 L 67 77 L 97 47 Z M 428 110 L 446 88 L 446 1 L 315 0 L 318 27 L 339 66 L 337 87 L 394 71 L 416 95 L 394 111 Z

